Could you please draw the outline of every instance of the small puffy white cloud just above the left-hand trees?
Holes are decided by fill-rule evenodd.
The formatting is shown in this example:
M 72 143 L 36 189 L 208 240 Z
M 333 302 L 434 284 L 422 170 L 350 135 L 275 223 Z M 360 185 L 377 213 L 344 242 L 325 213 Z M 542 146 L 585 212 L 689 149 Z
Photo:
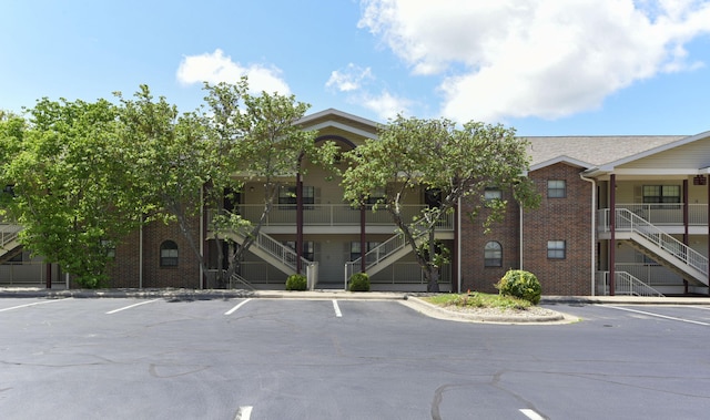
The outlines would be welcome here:
M 291 94 L 288 84 L 281 78 L 281 70 L 274 66 L 251 64 L 242 66 L 224 55 L 216 49 L 213 53 L 200 55 L 186 55 L 178 68 L 178 81 L 182 84 L 194 83 L 236 83 L 242 76 L 248 79 L 248 88 L 252 93 L 266 91 L 277 92 L 284 95 Z

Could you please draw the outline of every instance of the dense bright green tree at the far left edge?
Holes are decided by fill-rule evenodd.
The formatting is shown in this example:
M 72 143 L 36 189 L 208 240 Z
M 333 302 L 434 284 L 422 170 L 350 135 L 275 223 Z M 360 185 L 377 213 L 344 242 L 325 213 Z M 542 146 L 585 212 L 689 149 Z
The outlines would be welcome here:
M 27 123 L 2 123 L 9 155 L 0 176 L 13 184 L 6 211 L 24 227 L 27 248 L 98 287 L 111 249 L 140 223 L 140 202 L 124 184 L 118 109 L 105 100 L 42 99 L 29 114 Z

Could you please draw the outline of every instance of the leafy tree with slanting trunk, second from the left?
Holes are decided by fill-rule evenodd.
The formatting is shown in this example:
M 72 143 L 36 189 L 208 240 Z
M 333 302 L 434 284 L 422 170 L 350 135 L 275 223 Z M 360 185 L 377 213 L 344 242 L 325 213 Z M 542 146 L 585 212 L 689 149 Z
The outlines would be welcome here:
M 141 85 L 133 100 L 120 92 L 119 114 L 121 141 L 130 156 L 126 178 L 141 192 L 143 221 L 176 222 L 203 270 L 205 262 L 190 222 L 203 204 L 203 188 L 215 171 L 215 153 L 206 135 L 205 116 L 199 112 L 180 114 L 164 96 L 153 98 L 148 85 Z

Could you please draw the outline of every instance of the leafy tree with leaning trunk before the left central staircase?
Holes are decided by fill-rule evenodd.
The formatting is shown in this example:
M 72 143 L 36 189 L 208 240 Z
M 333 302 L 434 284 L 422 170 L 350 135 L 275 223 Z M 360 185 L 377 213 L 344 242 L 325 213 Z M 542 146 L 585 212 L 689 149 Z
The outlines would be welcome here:
M 239 84 L 206 84 L 205 89 L 213 115 L 210 131 L 221 144 L 222 156 L 231 170 L 223 174 L 258 178 L 263 185 L 263 211 L 258 221 L 250 222 L 239 214 L 214 221 L 220 228 L 239 229 L 243 236 L 230 254 L 229 277 L 240 270 L 244 254 L 258 237 L 284 185 L 284 176 L 295 174 L 298 182 L 305 173 L 306 161 L 329 165 L 337 151 L 332 142 L 316 146 L 315 133 L 297 125 L 310 105 L 297 102 L 294 95 L 266 92 L 251 95 L 246 93 L 245 79 Z M 217 184 L 234 189 L 241 186 L 223 178 Z M 301 244 L 296 246 L 300 248 Z

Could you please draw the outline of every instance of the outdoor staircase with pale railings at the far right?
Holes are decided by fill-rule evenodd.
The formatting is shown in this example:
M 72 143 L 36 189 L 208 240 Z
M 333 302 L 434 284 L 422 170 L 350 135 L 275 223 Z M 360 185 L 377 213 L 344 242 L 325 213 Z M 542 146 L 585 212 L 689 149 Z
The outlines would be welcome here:
M 609 228 L 608 224 L 605 228 Z M 708 286 L 707 257 L 627 208 L 616 211 L 616 238 L 628 242 L 683 278 Z

